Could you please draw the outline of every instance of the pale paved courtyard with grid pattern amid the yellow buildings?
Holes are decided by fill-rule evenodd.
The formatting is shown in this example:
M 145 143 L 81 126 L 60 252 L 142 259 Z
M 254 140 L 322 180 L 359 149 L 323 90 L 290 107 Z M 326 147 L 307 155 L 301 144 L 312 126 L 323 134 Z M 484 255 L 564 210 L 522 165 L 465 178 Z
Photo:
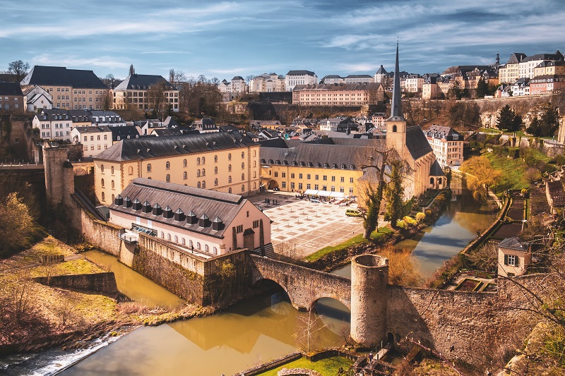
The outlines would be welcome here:
M 305 257 L 327 245 L 343 243 L 363 231 L 362 219 L 347 217 L 343 206 L 299 200 L 295 193 L 287 192 L 269 191 L 251 196 L 249 200 L 259 205 L 273 221 L 271 242 L 278 253 Z

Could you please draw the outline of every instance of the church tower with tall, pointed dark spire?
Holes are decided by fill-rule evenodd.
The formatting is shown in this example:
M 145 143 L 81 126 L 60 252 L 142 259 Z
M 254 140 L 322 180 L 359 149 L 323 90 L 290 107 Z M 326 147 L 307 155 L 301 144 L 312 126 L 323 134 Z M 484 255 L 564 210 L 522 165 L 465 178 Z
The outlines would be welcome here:
M 400 92 L 400 68 L 398 68 L 398 43 L 396 43 L 396 65 L 394 67 L 393 100 L 391 117 L 386 119 L 386 148 L 395 148 L 403 157 L 406 145 L 406 119 L 402 112 L 402 93 Z

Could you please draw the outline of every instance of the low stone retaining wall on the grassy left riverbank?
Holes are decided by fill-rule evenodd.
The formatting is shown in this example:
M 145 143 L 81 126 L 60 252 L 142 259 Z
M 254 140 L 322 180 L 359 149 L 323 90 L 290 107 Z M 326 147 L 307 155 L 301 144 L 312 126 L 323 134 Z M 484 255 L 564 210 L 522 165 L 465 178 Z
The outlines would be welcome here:
M 70 274 L 50 277 L 37 277 L 34 279 L 40 284 L 61 289 L 78 289 L 86 291 L 97 291 L 107 294 L 118 293 L 116 278 L 113 272 L 93 274 Z

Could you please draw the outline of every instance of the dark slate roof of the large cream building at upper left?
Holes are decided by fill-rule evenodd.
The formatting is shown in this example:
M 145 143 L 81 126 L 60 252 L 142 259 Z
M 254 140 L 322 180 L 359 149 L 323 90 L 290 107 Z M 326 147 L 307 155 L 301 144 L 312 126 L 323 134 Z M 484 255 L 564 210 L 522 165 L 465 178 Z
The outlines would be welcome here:
M 93 71 L 67 69 L 64 66 L 34 66 L 21 85 L 59 85 L 82 89 L 107 89 Z

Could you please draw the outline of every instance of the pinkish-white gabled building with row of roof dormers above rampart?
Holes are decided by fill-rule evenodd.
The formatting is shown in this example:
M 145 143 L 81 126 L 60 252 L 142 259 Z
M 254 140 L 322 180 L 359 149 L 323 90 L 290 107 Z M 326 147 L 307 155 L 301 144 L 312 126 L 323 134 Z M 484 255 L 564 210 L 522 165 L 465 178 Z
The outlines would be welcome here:
M 110 222 L 204 257 L 270 247 L 270 219 L 240 195 L 134 178 L 109 205 Z

